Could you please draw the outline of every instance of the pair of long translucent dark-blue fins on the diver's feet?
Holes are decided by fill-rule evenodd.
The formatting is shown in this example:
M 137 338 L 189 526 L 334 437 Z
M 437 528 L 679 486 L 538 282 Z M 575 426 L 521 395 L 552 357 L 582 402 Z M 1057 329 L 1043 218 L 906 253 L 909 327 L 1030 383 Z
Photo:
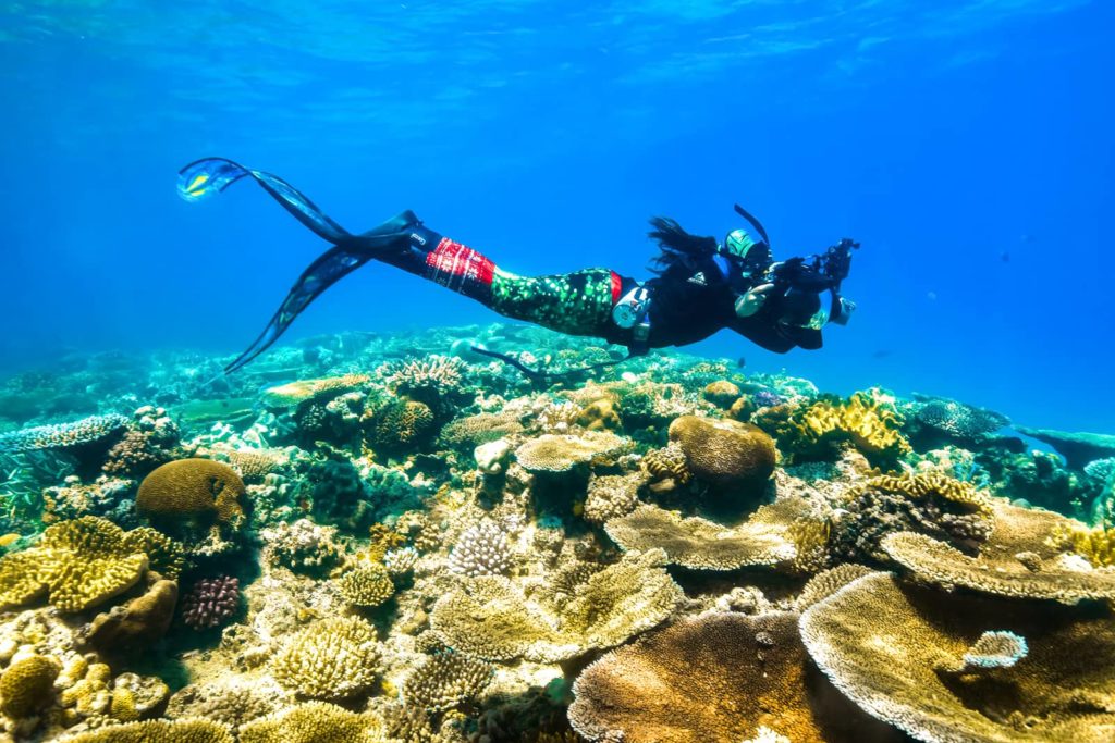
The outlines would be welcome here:
M 366 233 L 353 235 L 279 176 L 245 168 L 223 157 L 195 160 L 178 170 L 178 194 L 187 202 L 201 201 L 220 194 L 244 176 L 254 179 L 299 222 L 333 246 L 302 272 L 271 322 L 246 351 L 224 368 L 225 373 L 236 371 L 266 351 L 322 292 L 384 251 L 400 247 L 400 239 L 408 237 L 420 224 L 408 209 Z

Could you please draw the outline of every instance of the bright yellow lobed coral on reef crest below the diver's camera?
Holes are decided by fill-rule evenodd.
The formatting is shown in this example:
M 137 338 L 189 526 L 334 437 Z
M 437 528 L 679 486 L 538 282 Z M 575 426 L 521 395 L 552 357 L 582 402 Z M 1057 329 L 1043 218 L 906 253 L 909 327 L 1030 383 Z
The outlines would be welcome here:
M 814 402 L 801 417 L 797 430 L 813 442 L 847 438 L 864 453 L 901 454 L 910 451 L 899 431 L 901 424 L 902 418 L 888 401 L 856 392 L 847 402 Z

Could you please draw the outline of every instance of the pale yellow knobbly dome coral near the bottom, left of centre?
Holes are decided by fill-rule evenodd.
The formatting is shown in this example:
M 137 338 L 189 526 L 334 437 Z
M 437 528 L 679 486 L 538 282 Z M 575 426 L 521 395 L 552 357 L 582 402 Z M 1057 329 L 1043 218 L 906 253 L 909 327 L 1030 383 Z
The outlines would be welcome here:
M 272 661 L 271 669 L 280 684 L 303 696 L 355 696 L 376 681 L 376 632 L 357 617 L 326 619 L 290 638 Z

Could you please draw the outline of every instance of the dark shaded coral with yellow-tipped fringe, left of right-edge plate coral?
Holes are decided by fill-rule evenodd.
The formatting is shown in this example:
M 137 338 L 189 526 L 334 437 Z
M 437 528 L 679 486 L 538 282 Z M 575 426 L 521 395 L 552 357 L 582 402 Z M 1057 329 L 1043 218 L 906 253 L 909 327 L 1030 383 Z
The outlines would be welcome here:
M 851 488 L 835 522 L 832 550 L 850 560 L 883 561 L 888 534 L 918 531 L 968 549 L 995 527 L 990 500 L 970 482 L 937 471 L 880 476 Z

